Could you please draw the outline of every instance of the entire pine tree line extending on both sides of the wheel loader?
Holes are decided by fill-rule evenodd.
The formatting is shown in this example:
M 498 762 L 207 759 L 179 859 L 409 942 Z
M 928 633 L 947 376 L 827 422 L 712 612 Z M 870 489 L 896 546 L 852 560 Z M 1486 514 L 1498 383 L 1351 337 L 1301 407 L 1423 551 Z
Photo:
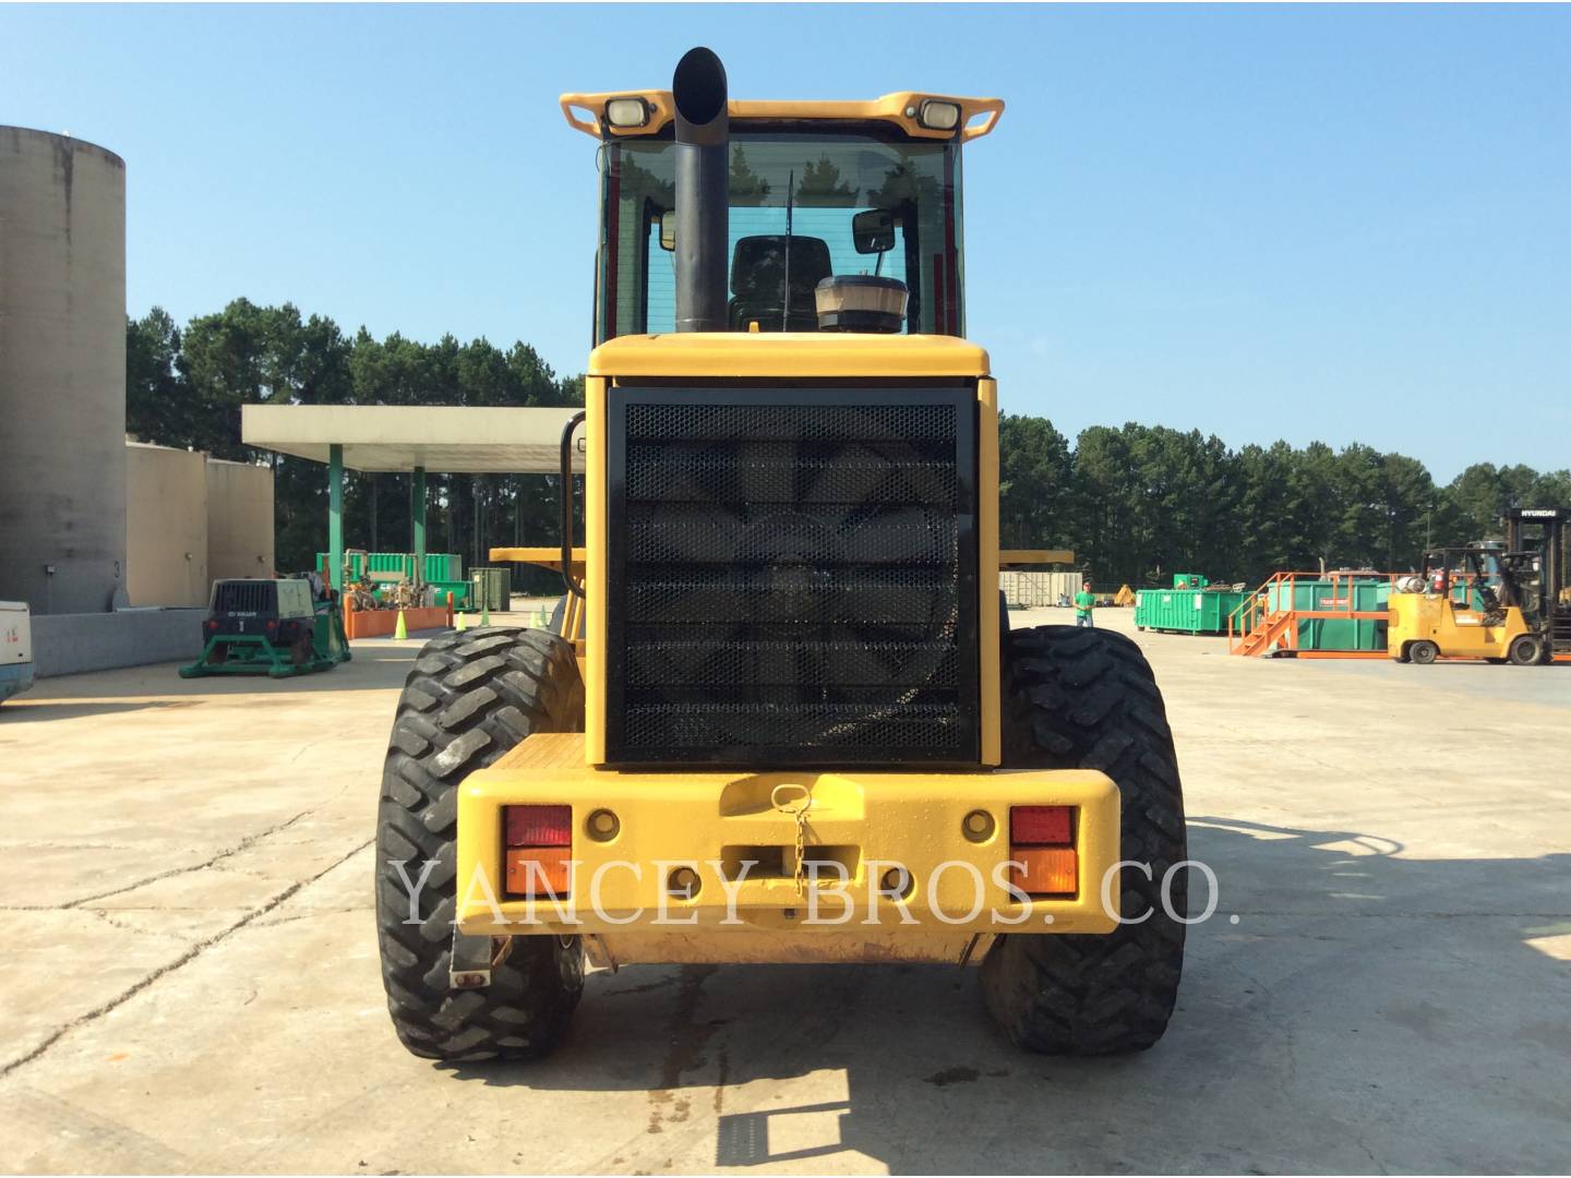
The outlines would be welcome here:
M 423 344 L 284 303 L 237 298 L 179 327 L 152 308 L 126 327 L 126 429 L 141 441 L 273 468 L 276 564 L 313 567 L 327 547 L 320 463 L 240 444 L 240 405 L 581 405 L 583 377 L 561 377 L 528 344 Z M 1098 587 L 1159 584 L 1174 572 L 1258 583 L 1277 569 L 1406 570 L 1430 547 L 1499 534 L 1503 507 L 1571 506 L 1571 471 L 1475 463 L 1439 485 L 1422 462 L 1354 444 L 1230 449 L 1197 430 L 1093 426 L 1073 444 L 1045 418 L 999 423 L 1005 548 L 1073 548 Z M 489 564 L 493 545 L 558 543 L 558 476 L 427 476 L 429 551 Z M 402 551 L 412 479 L 349 474 L 344 537 Z M 520 589 L 551 592 L 544 570 Z

